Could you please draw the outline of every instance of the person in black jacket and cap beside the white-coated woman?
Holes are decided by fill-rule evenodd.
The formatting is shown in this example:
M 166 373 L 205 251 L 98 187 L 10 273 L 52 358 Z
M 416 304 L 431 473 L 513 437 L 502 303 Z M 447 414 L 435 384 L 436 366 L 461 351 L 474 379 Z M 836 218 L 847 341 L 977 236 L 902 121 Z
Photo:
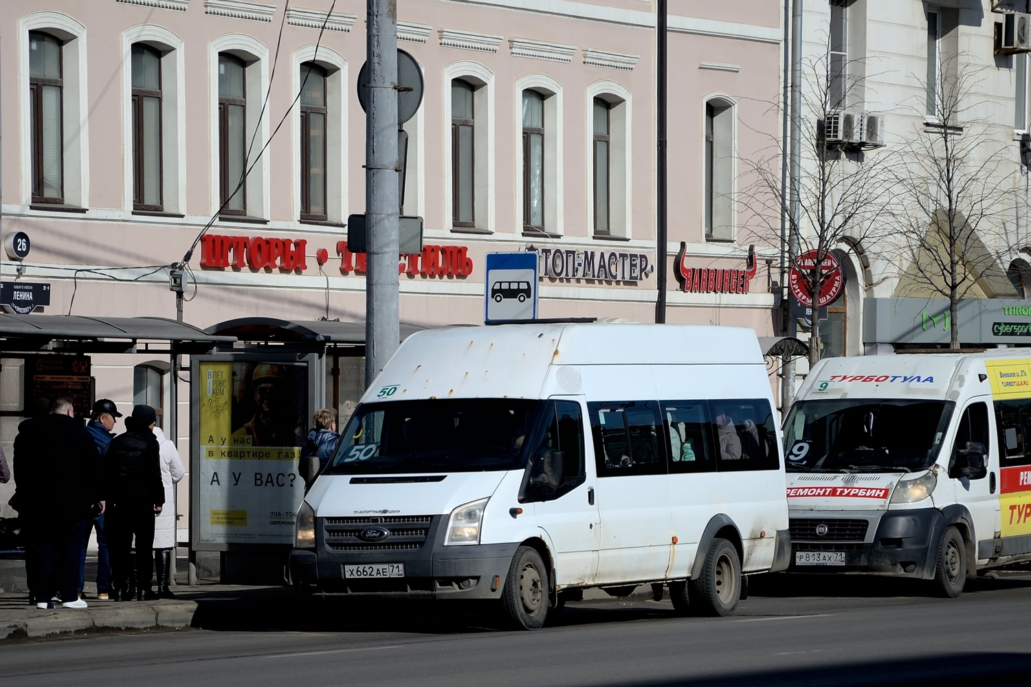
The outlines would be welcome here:
M 158 415 L 151 406 L 136 406 L 126 418 L 126 432 L 111 440 L 104 455 L 107 479 L 107 550 L 111 560 L 111 590 L 115 600 L 128 602 L 132 538 L 136 549 L 149 551 L 154 546 L 154 519 L 165 503 L 161 482 L 161 447 L 154 436 Z M 151 587 L 154 559 L 137 556 L 136 598 L 158 598 Z

